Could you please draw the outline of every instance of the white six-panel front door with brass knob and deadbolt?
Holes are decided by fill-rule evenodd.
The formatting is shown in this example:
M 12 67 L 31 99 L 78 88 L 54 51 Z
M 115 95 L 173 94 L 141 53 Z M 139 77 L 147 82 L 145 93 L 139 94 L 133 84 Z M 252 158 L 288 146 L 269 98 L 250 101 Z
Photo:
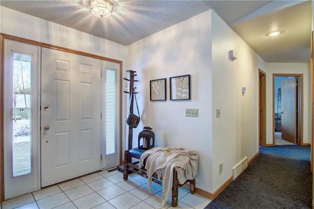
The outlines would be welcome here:
M 42 48 L 41 186 L 101 169 L 101 61 Z

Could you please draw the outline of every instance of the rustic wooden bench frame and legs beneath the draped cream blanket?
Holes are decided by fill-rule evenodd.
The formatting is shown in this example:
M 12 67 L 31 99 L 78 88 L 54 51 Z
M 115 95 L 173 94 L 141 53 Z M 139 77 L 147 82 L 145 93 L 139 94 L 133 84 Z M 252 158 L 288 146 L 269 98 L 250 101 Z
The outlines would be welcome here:
M 130 151 L 128 149 L 126 149 L 124 151 L 123 179 L 124 180 L 128 180 L 129 172 L 134 172 L 134 173 L 136 173 L 136 174 L 138 174 L 138 175 L 140 175 L 142 177 L 148 178 L 147 170 L 144 169 L 144 168 L 139 168 L 138 167 L 138 163 L 139 162 L 131 163 L 131 157 L 133 157 L 133 156 L 130 155 Z M 137 158 L 137 159 L 139 159 L 139 158 Z M 158 185 L 162 186 L 162 180 L 158 180 L 157 174 L 153 175 L 152 181 L 157 183 Z M 186 183 L 189 183 L 191 193 L 195 194 L 195 190 L 196 190 L 196 188 L 195 188 L 195 179 L 187 180 L 184 184 L 186 184 Z M 172 207 L 177 207 L 178 206 L 179 187 L 181 187 L 183 185 L 179 184 L 177 170 L 173 169 L 172 203 L 171 203 Z

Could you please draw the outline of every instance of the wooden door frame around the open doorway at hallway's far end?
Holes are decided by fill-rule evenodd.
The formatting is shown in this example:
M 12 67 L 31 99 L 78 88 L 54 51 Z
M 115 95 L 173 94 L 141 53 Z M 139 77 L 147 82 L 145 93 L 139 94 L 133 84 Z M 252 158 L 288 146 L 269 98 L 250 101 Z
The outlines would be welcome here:
M 298 145 L 308 145 L 303 143 L 303 74 L 297 73 L 273 73 L 273 146 L 275 146 L 275 77 L 276 76 L 291 76 L 291 77 L 299 77 L 297 79 L 298 88 L 297 88 L 297 105 L 298 105 L 298 112 L 296 114 L 296 129 L 298 134 L 297 144 Z

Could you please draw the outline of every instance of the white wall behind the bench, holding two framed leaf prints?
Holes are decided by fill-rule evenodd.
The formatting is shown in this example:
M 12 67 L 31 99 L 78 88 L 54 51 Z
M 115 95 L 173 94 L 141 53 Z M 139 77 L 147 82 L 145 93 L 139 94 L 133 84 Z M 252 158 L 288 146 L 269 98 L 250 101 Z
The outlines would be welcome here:
M 195 149 L 199 154 L 196 186 L 212 192 L 211 11 L 204 12 L 128 46 L 127 68 L 135 83 L 141 123 L 133 130 L 133 146 L 143 126 L 150 126 L 156 146 Z M 191 100 L 169 100 L 169 77 L 191 75 Z M 150 80 L 166 78 L 166 101 L 150 101 Z M 185 108 L 198 117 L 185 117 Z

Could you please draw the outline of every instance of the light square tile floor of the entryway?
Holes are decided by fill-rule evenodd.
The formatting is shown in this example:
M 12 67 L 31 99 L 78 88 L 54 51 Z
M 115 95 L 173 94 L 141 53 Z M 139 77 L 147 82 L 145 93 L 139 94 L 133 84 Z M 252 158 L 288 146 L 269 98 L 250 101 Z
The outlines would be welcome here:
M 162 186 L 153 182 L 149 191 L 147 179 L 137 174 L 130 174 L 129 180 L 124 181 L 123 173 L 118 170 L 101 171 L 3 201 L 1 208 L 153 209 L 158 208 L 161 194 Z M 188 189 L 179 189 L 179 209 L 204 209 L 209 202 Z M 173 208 L 171 197 L 163 208 Z

